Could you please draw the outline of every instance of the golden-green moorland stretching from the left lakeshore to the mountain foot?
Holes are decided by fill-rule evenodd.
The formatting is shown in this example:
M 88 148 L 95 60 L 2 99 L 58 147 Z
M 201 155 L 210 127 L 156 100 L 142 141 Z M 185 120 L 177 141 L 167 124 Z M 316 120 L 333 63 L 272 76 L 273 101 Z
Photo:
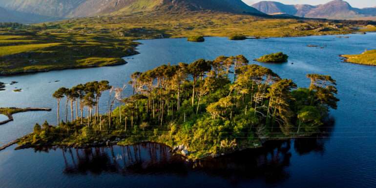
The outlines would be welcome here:
M 125 63 L 121 57 L 136 53 L 133 48 L 138 43 L 132 42 L 136 39 L 299 37 L 358 31 L 351 29 L 353 26 L 330 21 L 271 19 L 210 11 L 127 14 L 131 9 L 149 7 L 149 3 L 141 0 L 136 7 L 127 7 L 116 15 L 47 23 L 47 30 L 40 32 L 0 30 L 0 75 Z M 341 27 L 333 29 L 334 24 Z M 317 31 L 320 28 L 331 29 Z

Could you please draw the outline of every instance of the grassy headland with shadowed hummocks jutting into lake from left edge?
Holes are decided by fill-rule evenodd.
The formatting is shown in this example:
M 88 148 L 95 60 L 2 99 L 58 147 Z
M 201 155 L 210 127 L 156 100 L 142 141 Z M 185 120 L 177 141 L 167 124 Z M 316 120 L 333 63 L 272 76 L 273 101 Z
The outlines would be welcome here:
M 2 38 L 6 42 L 0 43 L 0 75 L 124 64 L 121 57 L 135 54 L 138 44 L 101 34 L 16 35 Z

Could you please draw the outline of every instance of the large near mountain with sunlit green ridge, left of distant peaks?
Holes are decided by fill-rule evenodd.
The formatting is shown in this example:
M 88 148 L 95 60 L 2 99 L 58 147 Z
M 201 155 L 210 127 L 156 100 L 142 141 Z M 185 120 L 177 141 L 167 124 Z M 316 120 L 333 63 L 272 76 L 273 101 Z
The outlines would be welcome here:
M 0 0 L 0 6 L 39 21 L 161 9 L 263 14 L 242 0 Z

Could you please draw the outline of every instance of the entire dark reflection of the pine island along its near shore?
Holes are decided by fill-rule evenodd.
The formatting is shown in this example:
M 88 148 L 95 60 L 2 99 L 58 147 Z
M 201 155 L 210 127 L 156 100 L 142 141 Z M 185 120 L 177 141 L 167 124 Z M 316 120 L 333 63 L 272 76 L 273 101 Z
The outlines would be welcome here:
M 88 149 L 55 147 L 36 151 L 62 150 L 63 174 L 69 176 L 112 173 L 123 176 L 147 174 L 185 177 L 188 172 L 194 171 L 221 177 L 232 185 L 254 179 L 275 184 L 290 177 L 285 169 L 290 166 L 292 144 L 299 154 L 324 152 L 324 139 L 316 138 L 269 141 L 261 149 L 237 151 L 196 162 L 173 156 L 167 146 L 155 143 Z

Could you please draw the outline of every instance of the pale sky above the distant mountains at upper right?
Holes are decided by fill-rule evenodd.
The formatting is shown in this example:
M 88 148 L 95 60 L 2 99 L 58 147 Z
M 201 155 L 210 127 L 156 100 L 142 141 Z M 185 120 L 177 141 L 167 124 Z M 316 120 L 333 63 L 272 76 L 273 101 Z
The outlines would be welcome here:
M 251 5 L 256 2 L 260 2 L 261 0 L 243 0 L 245 3 Z M 284 4 L 325 4 L 331 0 L 272 0 L 277 2 L 282 2 Z M 364 8 L 364 7 L 374 7 L 376 6 L 376 0 L 345 0 L 347 1 L 352 7 L 356 8 Z

